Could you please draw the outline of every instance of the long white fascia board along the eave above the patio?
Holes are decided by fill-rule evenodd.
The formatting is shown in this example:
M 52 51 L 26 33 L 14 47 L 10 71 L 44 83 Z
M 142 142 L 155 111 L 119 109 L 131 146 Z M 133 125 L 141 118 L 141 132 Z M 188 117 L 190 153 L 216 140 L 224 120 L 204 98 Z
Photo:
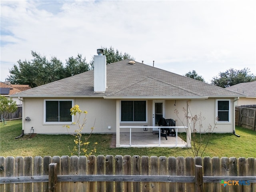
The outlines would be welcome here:
M 104 96 L 104 99 L 208 99 L 207 96 Z

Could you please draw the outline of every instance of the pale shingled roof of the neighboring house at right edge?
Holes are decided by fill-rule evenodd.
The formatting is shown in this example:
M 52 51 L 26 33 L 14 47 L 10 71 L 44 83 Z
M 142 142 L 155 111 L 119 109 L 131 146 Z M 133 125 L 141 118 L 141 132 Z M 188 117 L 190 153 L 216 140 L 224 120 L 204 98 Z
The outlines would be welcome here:
M 256 97 L 256 81 L 239 83 L 226 88 L 227 90 L 238 92 L 249 97 Z

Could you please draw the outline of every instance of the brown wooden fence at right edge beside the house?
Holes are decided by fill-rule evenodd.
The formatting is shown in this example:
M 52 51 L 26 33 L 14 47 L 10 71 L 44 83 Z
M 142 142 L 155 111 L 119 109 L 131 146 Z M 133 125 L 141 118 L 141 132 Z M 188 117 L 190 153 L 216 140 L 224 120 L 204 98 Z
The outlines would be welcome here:
M 256 108 L 236 106 L 236 125 L 256 131 Z

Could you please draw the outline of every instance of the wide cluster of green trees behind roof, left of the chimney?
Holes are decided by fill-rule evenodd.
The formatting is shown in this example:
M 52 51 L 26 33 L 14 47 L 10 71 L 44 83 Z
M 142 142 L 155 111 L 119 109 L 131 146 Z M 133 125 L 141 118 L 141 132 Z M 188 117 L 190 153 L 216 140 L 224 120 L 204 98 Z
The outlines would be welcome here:
M 31 54 L 32 60 L 18 60 L 18 66 L 14 64 L 9 70 L 11 84 L 28 84 L 33 88 L 90 70 L 81 54 L 68 58 L 66 67 L 56 57 L 47 60 L 37 52 L 31 51 Z

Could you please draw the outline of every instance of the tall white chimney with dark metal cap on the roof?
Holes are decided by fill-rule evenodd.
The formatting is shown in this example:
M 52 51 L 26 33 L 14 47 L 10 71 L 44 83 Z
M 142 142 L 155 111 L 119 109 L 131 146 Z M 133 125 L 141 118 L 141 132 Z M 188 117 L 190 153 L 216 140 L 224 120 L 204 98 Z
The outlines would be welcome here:
M 102 49 L 97 49 L 98 55 L 94 55 L 94 92 L 105 92 L 106 79 L 106 56 Z

